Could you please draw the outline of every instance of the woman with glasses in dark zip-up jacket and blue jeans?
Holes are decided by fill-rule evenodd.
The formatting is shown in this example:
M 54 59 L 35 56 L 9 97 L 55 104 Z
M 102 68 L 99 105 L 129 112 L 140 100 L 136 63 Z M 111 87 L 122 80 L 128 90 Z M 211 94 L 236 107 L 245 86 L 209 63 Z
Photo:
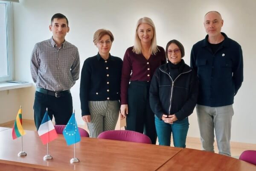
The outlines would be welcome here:
M 183 56 L 183 45 L 177 40 L 169 41 L 168 63 L 157 68 L 151 80 L 150 107 L 155 114 L 159 145 L 170 146 L 172 134 L 175 147 L 186 147 L 188 116 L 198 98 L 198 78 Z

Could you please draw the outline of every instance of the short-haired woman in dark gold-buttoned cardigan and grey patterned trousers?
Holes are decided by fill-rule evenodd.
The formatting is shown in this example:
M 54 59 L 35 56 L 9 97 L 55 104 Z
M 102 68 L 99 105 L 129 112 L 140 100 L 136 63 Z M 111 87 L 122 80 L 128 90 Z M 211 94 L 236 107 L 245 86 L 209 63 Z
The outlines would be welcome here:
M 122 59 L 109 53 L 113 40 L 111 31 L 97 30 L 93 42 L 99 52 L 84 61 L 81 71 L 82 119 L 90 137 L 115 129 L 119 116 Z

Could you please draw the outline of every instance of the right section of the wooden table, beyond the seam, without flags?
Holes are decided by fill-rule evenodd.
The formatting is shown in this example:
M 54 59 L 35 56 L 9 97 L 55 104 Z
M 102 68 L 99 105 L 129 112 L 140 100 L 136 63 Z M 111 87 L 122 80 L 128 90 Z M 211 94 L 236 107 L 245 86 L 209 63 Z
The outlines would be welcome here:
M 212 152 L 183 149 L 157 171 L 256 171 L 256 165 Z

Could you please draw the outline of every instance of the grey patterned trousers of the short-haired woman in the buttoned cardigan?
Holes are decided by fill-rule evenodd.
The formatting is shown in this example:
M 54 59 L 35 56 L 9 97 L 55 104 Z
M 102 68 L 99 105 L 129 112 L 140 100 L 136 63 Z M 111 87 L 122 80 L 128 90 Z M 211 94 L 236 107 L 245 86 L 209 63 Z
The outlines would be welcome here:
M 119 117 L 119 101 L 89 101 L 91 121 L 87 122 L 90 137 L 96 138 L 104 131 L 114 130 Z

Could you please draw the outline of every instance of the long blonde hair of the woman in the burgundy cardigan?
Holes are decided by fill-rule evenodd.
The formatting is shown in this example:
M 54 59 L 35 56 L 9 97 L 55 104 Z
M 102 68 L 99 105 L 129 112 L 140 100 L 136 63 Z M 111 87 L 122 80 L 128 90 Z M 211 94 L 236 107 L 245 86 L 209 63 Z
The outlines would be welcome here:
M 137 27 L 136 27 L 136 32 L 135 32 L 134 47 L 133 47 L 132 51 L 134 53 L 137 53 L 137 54 L 140 54 L 142 52 L 140 38 L 138 36 L 138 27 L 142 23 L 151 25 L 151 27 L 153 28 L 154 35 L 153 35 L 153 38 L 151 40 L 150 50 L 151 50 L 151 54 L 155 55 L 159 51 L 159 49 L 157 48 L 156 29 L 155 29 L 155 26 L 154 26 L 154 22 L 150 18 L 148 18 L 148 17 L 140 18 L 140 20 L 138 20 L 138 22 L 137 22 L 137 25 L 136 25 Z

